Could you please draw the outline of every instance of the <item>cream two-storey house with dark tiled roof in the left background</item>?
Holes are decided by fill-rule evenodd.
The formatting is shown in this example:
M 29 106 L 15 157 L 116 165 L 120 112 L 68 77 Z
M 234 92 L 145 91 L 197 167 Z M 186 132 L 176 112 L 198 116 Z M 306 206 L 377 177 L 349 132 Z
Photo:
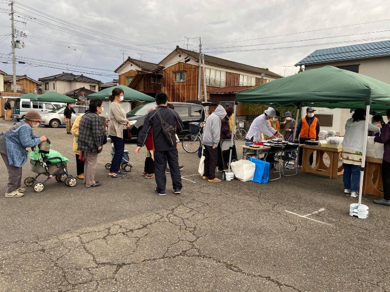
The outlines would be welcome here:
M 42 83 L 42 93 L 55 91 L 66 93 L 78 88 L 86 88 L 92 91 L 99 90 L 99 80 L 73 73 L 65 73 L 39 78 Z

